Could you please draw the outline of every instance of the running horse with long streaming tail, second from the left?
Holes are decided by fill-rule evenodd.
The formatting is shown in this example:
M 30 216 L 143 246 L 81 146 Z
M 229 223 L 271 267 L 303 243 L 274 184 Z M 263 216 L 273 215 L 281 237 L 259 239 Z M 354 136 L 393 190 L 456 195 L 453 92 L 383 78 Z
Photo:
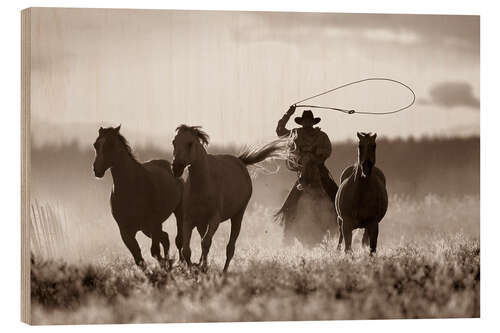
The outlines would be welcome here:
M 173 140 L 173 171 L 180 177 L 186 166 L 189 175 L 184 187 L 184 224 L 182 254 L 191 265 L 190 240 L 194 227 L 202 237 L 200 264 L 207 266 L 207 255 L 219 224 L 231 219 L 231 235 L 226 248 L 227 271 L 234 254 L 236 239 L 240 233 L 241 221 L 252 195 L 252 181 L 248 165 L 267 158 L 280 156 L 283 149 L 274 141 L 260 149 L 245 151 L 238 157 L 232 155 L 208 154 L 208 135 L 199 126 L 181 125 Z

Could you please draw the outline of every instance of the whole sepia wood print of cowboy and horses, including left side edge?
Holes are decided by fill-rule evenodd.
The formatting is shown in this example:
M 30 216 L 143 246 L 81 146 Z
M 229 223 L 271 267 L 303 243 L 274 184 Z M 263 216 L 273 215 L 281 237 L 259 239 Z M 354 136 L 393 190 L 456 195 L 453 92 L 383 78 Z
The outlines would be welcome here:
M 22 320 L 480 317 L 480 17 L 22 11 Z

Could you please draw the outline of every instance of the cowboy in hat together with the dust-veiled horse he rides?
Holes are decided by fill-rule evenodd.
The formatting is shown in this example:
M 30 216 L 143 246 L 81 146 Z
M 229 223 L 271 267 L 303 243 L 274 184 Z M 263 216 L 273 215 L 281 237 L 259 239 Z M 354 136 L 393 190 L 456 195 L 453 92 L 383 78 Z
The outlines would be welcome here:
M 304 244 L 313 245 L 321 242 L 330 229 L 332 219 L 336 220 L 335 195 L 338 187 L 324 164 L 332 151 L 330 139 L 321 129 L 313 127 L 321 119 L 315 118 L 310 110 L 305 110 L 302 117 L 295 118 L 295 122 L 302 127 L 289 130 L 285 126 L 294 112 L 295 106 L 292 105 L 278 122 L 276 134 L 289 138 L 290 155 L 294 161 L 288 163 L 288 167 L 297 171 L 298 180 L 275 218 L 284 225 L 286 243 L 297 238 Z M 319 206 L 321 209 L 318 210 Z

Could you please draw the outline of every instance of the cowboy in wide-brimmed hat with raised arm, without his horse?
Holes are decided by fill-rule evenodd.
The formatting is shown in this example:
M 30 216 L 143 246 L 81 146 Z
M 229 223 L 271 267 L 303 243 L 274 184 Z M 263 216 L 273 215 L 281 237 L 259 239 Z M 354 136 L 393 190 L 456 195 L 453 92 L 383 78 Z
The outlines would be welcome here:
M 304 186 L 313 183 L 316 172 L 323 189 L 331 201 L 335 202 L 338 186 L 325 166 L 326 159 L 332 153 L 330 139 L 319 127 L 314 127 L 321 121 L 321 118 L 315 118 L 311 110 L 305 110 L 301 117 L 295 117 L 295 122 L 301 127 L 292 130 L 287 129 L 286 124 L 294 114 L 295 108 L 295 105 L 290 106 L 278 121 L 276 134 L 279 137 L 290 137 L 295 145 L 293 154 L 298 165 L 302 166 L 298 169 L 299 179 L 296 187 L 298 190 L 302 190 Z

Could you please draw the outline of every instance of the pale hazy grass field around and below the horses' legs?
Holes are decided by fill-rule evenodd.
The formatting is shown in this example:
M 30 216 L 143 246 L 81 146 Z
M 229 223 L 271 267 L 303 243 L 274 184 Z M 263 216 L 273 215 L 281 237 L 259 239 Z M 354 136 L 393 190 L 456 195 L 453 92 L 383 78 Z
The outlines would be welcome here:
M 214 239 L 205 273 L 137 269 L 110 216 L 88 221 L 64 205 L 33 203 L 32 315 L 36 324 L 478 317 L 479 196 L 391 196 L 370 257 L 328 239 L 281 247 L 273 209 L 253 205 L 235 257 L 220 273 L 229 225 Z M 57 224 L 57 228 L 54 227 Z M 175 235 L 173 221 L 164 229 Z M 47 232 L 43 230 L 50 229 Z M 36 245 L 38 244 L 38 245 Z M 199 237 L 192 240 L 199 256 Z M 171 247 L 171 254 L 175 251 Z

